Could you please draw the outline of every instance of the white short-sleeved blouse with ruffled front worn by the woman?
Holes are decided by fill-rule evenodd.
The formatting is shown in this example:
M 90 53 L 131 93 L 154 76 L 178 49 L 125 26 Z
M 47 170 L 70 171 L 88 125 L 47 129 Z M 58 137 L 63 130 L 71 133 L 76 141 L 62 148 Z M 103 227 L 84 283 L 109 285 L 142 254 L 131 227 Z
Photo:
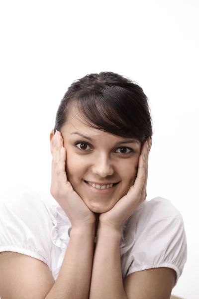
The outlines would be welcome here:
M 0 252 L 43 261 L 55 281 L 70 231 L 71 223 L 50 191 L 23 187 L 0 198 Z M 177 284 L 187 261 L 187 241 L 182 216 L 168 199 L 155 197 L 141 203 L 120 232 L 123 279 L 136 271 L 168 267 L 176 271 Z

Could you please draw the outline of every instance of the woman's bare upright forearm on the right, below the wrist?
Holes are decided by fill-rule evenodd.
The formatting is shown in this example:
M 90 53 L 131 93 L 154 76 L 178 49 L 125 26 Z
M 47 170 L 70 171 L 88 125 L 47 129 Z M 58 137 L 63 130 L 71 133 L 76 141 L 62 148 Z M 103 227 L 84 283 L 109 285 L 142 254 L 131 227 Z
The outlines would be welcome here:
M 122 281 L 120 232 L 99 223 L 89 299 L 127 299 Z

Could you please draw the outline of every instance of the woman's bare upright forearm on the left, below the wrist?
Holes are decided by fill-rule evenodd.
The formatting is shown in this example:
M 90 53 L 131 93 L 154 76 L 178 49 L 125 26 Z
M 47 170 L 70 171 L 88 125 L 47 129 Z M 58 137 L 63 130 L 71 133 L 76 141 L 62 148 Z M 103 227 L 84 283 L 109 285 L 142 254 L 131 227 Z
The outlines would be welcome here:
M 45 299 L 88 299 L 94 255 L 95 224 L 71 230 L 59 276 Z

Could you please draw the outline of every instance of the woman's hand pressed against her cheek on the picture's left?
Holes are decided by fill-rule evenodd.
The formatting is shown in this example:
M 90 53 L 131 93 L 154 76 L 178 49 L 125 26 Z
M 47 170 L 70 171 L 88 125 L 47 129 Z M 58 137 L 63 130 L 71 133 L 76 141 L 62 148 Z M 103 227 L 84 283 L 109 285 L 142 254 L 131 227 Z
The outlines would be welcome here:
M 57 139 L 56 139 L 57 136 Z M 82 198 L 73 190 L 66 175 L 66 149 L 59 131 L 53 137 L 53 158 L 50 193 L 68 216 L 72 228 L 88 227 L 95 224 L 96 216 Z M 61 152 L 62 148 L 62 152 Z

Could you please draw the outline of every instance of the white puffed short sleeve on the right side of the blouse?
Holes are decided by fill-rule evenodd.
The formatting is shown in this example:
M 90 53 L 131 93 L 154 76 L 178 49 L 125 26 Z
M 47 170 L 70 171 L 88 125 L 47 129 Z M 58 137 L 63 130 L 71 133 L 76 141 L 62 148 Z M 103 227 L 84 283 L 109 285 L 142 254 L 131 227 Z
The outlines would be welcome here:
M 167 267 L 176 272 L 176 286 L 187 261 L 183 218 L 167 199 L 151 201 L 142 212 L 126 276 L 145 269 Z

